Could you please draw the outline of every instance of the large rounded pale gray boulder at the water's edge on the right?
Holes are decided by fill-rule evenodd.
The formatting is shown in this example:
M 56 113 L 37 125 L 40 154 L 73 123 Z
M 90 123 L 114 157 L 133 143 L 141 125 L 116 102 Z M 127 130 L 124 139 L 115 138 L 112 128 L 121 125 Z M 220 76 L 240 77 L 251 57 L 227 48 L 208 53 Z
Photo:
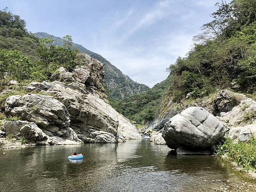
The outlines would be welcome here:
M 204 108 L 190 107 L 175 115 L 165 125 L 162 136 L 169 148 L 180 146 L 206 148 L 225 135 L 223 125 Z

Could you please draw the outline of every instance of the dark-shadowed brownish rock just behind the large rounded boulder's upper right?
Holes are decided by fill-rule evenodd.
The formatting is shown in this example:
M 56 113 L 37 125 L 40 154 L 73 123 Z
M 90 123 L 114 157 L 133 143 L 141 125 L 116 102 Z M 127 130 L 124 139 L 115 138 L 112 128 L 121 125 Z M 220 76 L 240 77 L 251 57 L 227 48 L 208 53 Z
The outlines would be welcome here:
M 214 99 L 214 109 L 212 114 L 219 116 L 221 112 L 231 111 L 244 99 L 247 99 L 247 96 L 243 94 L 234 93 L 229 90 L 222 90 Z

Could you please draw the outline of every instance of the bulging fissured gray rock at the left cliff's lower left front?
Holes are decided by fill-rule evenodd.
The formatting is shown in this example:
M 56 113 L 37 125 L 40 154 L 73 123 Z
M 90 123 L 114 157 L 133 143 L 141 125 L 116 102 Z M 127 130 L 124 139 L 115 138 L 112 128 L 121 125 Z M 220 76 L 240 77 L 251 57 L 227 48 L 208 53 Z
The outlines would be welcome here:
M 6 99 L 6 114 L 35 122 L 39 128 L 55 136 L 78 141 L 78 137 L 70 128 L 66 107 L 52 96 L 38 94 L 10 96 Z

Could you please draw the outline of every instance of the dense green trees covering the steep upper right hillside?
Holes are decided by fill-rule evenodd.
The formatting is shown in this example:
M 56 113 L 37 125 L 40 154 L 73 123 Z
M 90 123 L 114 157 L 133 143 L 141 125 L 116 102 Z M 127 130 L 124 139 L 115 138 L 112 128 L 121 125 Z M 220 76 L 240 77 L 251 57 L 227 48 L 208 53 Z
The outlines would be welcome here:
M 253 93 L 256 82 L 256 3 L 233 0 L 217 3 L 213 20 L 195 37 L 195 47 L 169 67 L 173 82 L 168 96 L 180 102 L 238 84 L 237 90 Z

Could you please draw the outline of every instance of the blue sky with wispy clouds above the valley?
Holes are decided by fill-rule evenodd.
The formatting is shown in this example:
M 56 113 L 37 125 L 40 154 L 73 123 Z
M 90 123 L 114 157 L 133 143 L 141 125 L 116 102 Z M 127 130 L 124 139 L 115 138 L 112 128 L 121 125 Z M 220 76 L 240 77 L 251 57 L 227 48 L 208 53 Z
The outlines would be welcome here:
M 0 0 L 26 20 L 30 32 L 47 32 L 106 58 L 134 81 L 152 87 L 166 68 L 192 48 L 218 0 Z

